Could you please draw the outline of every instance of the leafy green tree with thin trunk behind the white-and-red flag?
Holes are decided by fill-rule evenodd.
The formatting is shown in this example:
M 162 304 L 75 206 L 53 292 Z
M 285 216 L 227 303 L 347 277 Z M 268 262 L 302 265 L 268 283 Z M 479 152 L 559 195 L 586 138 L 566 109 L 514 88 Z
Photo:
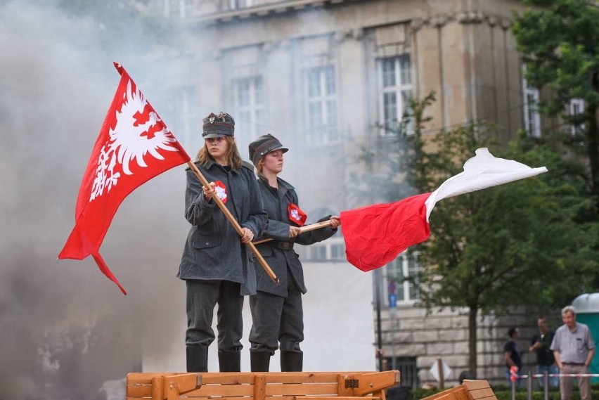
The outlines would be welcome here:
M 413 193 L 433 191 L 462 172 L 464 162 L 482 147 L 491 148 L 496 157 L 549 170 L 532 179 L 442 200 L 430 217 L 430 239 L 416 247 L 423 305 L 468 309 L 469 369 L 475 374 L 477 315 L 501 315 L 521 306 L 561 307 L 588 290 L 591 283 L 581 276 L 599 266 L 593 247 L 599 228 L 592 219 L 581 218 L 593 210 L 581 179 L 584 166 L 565 157 L 558 144 L 536 143 L 521 132 L 507 148 L 498 148 L 489 139 L 494 127 L 475 123 L 425 141 L 423 115 L 431 101 L 413 101 L 410 114 L 404 116 L 413 119 L 413 131 L 399 132 L 394 139 L 403 143 L 385 143 L 363 153 L 363 160 L 387 165 L 372 182 L 402 176 Z M 397 169 L 389 172 L 390 167 Z M 385 194 L 389 198 L 380 200 L 399 200 L 397 193 Z

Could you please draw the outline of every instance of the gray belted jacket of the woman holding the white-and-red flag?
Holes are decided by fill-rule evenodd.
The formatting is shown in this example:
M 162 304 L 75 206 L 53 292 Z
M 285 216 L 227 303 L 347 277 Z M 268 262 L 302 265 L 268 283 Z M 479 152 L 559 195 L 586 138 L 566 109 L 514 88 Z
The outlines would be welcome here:
M 295 193 L 295 188 L 283 181 L 283 179 L 277 178 L 277 183 L 278 190 L 270 186 L 264 177 L 261 176 L 258 179 L 264 211 L 268 214 L 268 221 L 262 238 L 271 238 L 273 240 L 261 243 L 257 245 L 257 248 L 280 280 L 280 283 L 273 283 L 273 280 L 266 274 L 264 269 L 257 265 L 257 290 L 287 297 L 287 286 L 290 280 L 295 281 L 302 293 L 307 292 L 307 289 L 304 283 L 304 270 L 302 269 L 302 263 L 299 262 L 299 256 L 293 249 L 283 250 L 279 248 L 279 243 L 311 245 L 330 238 L 335 234 L 336 230 L 326 227 L 304 232 L 295 238 L 290 238 L 289 227 L 290 225 L 297 226 L 297 224 L 295 224 L 295 221 L 289 219 L 288 207 L 290 203 L 299 206 L 297 194 Z M 330 216 L 322 220 L 326 221 L 329 218 Z

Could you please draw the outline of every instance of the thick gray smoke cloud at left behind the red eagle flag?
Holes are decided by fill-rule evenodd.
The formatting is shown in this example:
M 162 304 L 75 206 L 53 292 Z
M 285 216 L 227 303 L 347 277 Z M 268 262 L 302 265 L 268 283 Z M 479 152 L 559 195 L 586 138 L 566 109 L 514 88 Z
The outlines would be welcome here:
M 188 229 L 183 167 L 129 196 L 108 231 L 101 253 L 127 297 L 91 257 L 56 259 L 75 223 L 79 183 L 120 79 L 113 60 L 153 102 L 143 85 L 151 65 L 139 57 L 148 45 L 143 26 L 98 22 L 77 4 L 0 5 L 0 387 L 6 399 L 105 399 L 103 382 L 139 370 L 141 349 L 156 343 L 162 329 L 185 323 L 184 285 L 174 277 Z M 127 32 L 119 40 L 117 27 Z

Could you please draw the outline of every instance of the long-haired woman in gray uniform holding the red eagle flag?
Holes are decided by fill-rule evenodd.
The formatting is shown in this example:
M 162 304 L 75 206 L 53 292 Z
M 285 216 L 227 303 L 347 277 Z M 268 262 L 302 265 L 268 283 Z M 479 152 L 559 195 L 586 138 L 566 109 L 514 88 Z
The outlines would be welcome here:
M 179 273 L 187 288 L 186 353 L 188 372 L 207 372 L 208 346 L 217 316 L 219 369 L 240 371 L 243 295 L 256 292 L 256 275 L 244 243 L 257 238 L 266 213 L 251 164 L 243 164 L 235 139 L 235 121 L 226 113 L 203 120 L 204 146 L 195 162 L 210 188 L 187 169 L 185 217 L 191 224 Z M 243 230 L 240 238 L 214 200 L 219 196 Z

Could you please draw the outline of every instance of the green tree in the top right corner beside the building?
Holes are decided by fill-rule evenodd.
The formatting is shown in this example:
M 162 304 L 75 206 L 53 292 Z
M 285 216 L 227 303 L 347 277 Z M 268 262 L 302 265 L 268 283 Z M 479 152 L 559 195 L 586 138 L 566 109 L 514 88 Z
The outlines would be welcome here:
M 588 159 L 588 186 L 599 207 L 599 4 L 588 0 L 522 0 L 538 6 L 514 14 L 513 34 L 526 57 L 526 77 L 550 98 L 541 111 L 560 116 L 581 128 L 579 138 L 569 135 L 575 153 L 584 149 Z M 567 112 L 574 98 L 585 110 Z M 582 146 L 581 146 L 582 145 Z

